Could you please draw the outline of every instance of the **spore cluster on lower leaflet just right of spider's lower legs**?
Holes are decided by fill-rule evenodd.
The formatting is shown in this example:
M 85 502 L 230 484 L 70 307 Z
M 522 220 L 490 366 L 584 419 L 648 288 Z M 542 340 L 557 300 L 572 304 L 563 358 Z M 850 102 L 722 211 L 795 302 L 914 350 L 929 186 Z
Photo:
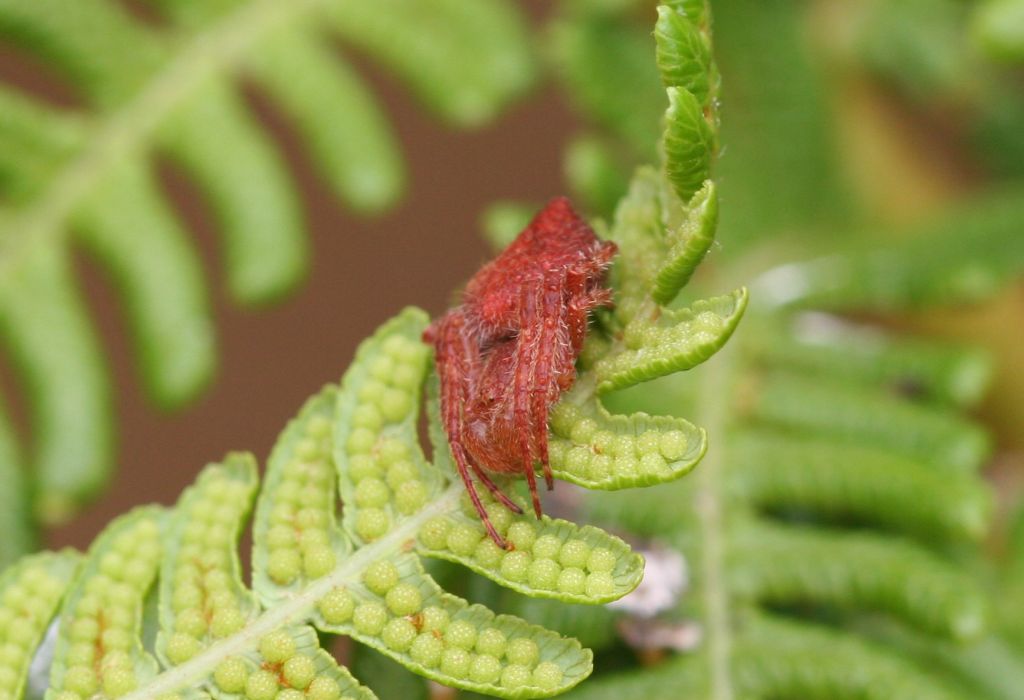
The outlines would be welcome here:
M 564 401 L 552 411 L 551 430 L 552 470 L 592 487 L 671 479 L 671 465 L 691 447 L 690 436 L 682 430 L 651 427 L 638 434 L 618 432 Z

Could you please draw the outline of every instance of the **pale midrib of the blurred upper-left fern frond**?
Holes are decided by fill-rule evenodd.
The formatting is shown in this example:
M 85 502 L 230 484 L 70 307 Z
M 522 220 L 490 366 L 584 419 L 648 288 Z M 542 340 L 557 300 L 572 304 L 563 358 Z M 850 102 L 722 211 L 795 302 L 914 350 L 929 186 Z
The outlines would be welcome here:
M 90 144 L 56 176 L 48 190 L 0 230 L 0 277 L 41 240 L 63 235 L 78 204 L 126 155 L 141 147 L 176 105 L 212 76 L 242 61 L 264 35 L 325 0 L 256 0 L 197 34 L 148 86 L 114 112 Z M 15 231 L 17 232 L 15 234 Z

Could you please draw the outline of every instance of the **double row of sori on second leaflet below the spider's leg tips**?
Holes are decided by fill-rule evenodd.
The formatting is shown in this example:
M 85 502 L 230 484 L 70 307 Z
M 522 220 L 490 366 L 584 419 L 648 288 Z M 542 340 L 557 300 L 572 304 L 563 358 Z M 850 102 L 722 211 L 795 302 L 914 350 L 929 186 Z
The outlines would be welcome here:
M 440 596 L 431 596 L 434 601 L 428 602 L 434 604 L 425 605 L 421 589 L 401 581 L 391 562 L 370 566 L 362 584 L 373 596 L 335 588 L 321 601 L 319 613 L 328 624 L 349 625 L 355 635 L 380 640 L 428 671 L 460 681 L 543 691 L 562 682 L 561 667 L 541 661 L 531 639 L 510 637 Z

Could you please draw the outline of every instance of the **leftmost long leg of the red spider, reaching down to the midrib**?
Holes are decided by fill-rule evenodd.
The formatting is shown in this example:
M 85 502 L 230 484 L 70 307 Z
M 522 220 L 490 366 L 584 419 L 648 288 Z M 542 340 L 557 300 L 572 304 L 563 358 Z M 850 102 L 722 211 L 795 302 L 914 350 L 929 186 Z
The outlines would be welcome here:
M 449 314 L 440 321 L 440 326 L 435 332 L 437 343 L 437 374 L 440 378 L 441 389 L 441 422 L 444 424 L 444 432 L 447 433 L 449 446 L 452 448 L 452 456 L 455 458 L 456 469 L 462 477 L 462 483 L 466 486 L 469 499 L 476 509 L 477 515 L 483 522 L 483 527 L 487 534 L 495 540 L 495 543 L 502 549 L 507 549 L 505 540 L 487 516 L 483 504 L 480 502 L 480 495 L 476 492 L 476 483 L 471 474 L 477 475 L 480 471 L 475 465 L 471 465 L 463 444 L 465 436 L 465 423 L 463 421 L 462 406 L 465 404 L 466 395 L 469 392 L 472 375 L 476 365 L 476 352 L 473 348 L 472 339 L 466 329 L 465 318 L 460 314 Z M 484 485 L 488 485 L 489 480 L 483 480 Z M 488 488 L 494 486 L 490 482 Z

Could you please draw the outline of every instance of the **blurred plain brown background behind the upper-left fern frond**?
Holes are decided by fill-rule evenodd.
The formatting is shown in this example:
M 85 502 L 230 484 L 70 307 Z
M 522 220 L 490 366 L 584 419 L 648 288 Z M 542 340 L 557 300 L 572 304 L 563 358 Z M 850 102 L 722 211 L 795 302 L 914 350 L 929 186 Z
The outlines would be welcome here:
M 540 25 L 544 8 L 527 3 Z M 79 256 L 78 271 L 115 381 L 119 472 L 98 501 L 51 531 L 49 546 L 85 548 L 115 515 L 144 502 L 172 504 L 208 462 L 226 451 L 266 457 L 302 401 L 337 381 L 357 343 L 403 306 L 442 311 L 488 258 L 478 218 L 490 202 L 543 202 L 561 193 L 561 145 L 573 127 L 561 97 L 541 87 L 497 122 L 475 131 L 439 124 L 371 61 L 341 50 L 374 85 L 402 144 L 408 191 L 384 216 L 345 211 L 318 180 L 285 120 L 256 93 L 256 113 L 283 145 L 301 188 L 313 250 L 305 285 L 272 308 L 244 310 L 226 298 L 216 229 L 199 194 L 170 167 L 164 182 L 199 232 L 214 290 L 220 368 L 206 394 L 184 410 L 160 413 L 142 396 L 118 300 L 99 270 Z M 0 45 L 0 80 L 74 104 L 74 93 L 43 67 Z M 2 358 L 0 358 L 2 359 Z M 18 427 L 24 401 L 9 365 L 0 366 Z

